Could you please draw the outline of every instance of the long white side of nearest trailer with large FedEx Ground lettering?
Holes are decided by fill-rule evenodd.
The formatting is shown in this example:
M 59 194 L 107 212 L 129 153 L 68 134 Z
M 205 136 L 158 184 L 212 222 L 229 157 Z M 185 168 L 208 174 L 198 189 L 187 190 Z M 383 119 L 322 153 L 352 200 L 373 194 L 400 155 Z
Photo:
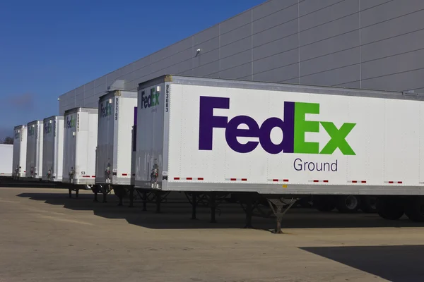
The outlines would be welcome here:
M 422 195 L 424 102 L 343 91 L 172 84 L 168 188 Z

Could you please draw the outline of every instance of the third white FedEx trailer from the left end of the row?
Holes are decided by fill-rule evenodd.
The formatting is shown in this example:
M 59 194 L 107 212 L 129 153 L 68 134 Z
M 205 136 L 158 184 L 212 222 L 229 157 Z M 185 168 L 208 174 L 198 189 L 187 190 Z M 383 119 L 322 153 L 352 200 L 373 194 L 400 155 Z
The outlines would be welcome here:
M 43 180 L 61 182 L 64 166 L 64 117 L 50 116 L 43 121 Z

